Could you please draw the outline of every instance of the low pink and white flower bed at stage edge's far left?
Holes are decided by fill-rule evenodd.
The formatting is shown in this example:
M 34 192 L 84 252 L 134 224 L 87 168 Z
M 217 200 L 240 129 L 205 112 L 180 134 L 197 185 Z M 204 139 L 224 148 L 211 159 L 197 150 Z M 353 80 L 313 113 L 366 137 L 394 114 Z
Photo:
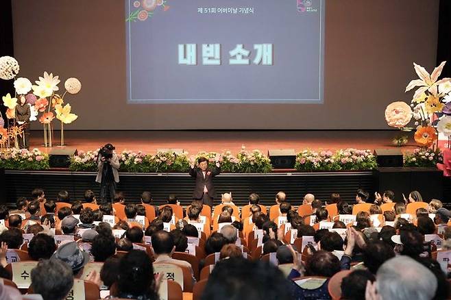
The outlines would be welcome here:
M 0 151 L 0 168 L 12 170 L 46 170 L 49 168 L 49 155 L 38 149 L 3 149 Z

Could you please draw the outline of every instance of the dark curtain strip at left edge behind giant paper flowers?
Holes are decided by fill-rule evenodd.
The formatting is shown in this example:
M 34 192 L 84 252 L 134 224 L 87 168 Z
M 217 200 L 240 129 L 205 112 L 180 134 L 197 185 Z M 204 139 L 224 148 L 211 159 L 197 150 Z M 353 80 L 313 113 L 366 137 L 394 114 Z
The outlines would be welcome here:
M 12 0 L 0 1 L 0 57 L 5 55 L 14 57 L 11 1 Z M 0 79 L 0 96 L 4 96 L 8 94 L 8 92 L 11 93 L 11 95 L 14 95 L 13 81 L 13 79 L 8 81 Z M 5 118 L 6 108 L 3 105 L 3 101 L 0 101 L 0 111 L 3 118 Z

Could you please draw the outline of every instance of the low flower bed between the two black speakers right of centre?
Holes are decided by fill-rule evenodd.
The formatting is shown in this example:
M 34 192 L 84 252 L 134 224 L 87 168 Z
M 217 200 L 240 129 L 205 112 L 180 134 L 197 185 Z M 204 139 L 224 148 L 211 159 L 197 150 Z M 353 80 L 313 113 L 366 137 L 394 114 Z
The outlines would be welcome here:
M 369 150 L 354 148 L 332 151 L 304 150 L 296 155 L 295 168 L 302 172 L 372 170 L 376 158 Z

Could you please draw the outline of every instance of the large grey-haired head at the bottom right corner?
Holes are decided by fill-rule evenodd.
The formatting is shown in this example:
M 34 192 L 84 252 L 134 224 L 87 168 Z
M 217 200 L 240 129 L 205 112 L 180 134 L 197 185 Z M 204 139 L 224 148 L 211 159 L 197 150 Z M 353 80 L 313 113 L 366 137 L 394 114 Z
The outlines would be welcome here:
M 380 266 L 376 283 L 367 284 L 365 299 L 430 300 L 436 290 L 437 279 L 428 268 L 408 256 L 398 256 Z

